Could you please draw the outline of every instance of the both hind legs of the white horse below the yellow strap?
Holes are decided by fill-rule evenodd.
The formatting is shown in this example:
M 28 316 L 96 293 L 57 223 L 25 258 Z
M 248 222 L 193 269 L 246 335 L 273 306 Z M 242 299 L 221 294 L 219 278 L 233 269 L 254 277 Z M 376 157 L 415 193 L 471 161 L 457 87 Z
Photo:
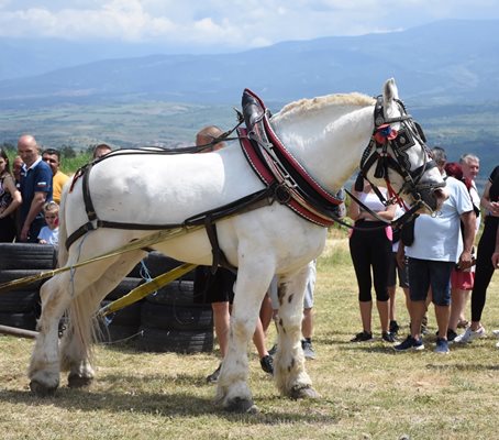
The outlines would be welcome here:
M 89 265 L 74 273 L 54 276 L 41 289 L 42 316 L 38 336 L 31 358 L 31 389 L 40 395 L 54 393 L 59 385 L 60 364 L 69 370 L 73 386 L 88 384 L 93 377 L 90 365 L 92 315 L 103 298 L 140 261 L 142 251 L 127 257 L 107 260 L 99 266 Z M 97 282 L 96 282 L 97 280 Z M 68 330 L 58 352 L 58 326 L 64 311 L 69 311 Z

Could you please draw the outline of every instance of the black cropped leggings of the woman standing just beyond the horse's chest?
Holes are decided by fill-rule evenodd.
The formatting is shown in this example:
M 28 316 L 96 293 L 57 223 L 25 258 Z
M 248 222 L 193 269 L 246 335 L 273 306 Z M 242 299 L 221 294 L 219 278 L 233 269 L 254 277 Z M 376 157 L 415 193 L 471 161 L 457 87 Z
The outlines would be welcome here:
M 391 260 L 391 240 L 387 237 L 386 223 L 380 221 L 357 221 L 350 238 L 350 253 L 358 284 L 358 300 L 372 301 L 374 287 L 378 301 L 388 301 L 388 273 Z M 368 229 L 368 230 L 364 230 Z M 373 268 L 373 276 L 370 270 Z

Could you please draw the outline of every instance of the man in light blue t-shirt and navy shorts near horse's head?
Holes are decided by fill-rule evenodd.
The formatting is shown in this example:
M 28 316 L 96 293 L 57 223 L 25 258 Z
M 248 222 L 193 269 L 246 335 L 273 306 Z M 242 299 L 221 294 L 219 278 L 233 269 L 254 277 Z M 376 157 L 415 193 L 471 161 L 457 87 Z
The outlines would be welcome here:
M 432 150 L 439 169 L 444 173 L 445 151 Z M 414 223 L 414 241 L 406 248 L 409 257 L 409 289 L 411 298 L 411 334 L 396 351 L 422 350 L 421 321 L 426 312 L 426 297 L 431 288 L 439 326 L 436 353 L 448 353 L 447 328 L 451 314 L 451 272 L 472 266 L 476 216 L 466 186 L 447 177 L 450 197 L 434 216 L 420 216 Z M 461 233 L 463 222 L 464 233 Z

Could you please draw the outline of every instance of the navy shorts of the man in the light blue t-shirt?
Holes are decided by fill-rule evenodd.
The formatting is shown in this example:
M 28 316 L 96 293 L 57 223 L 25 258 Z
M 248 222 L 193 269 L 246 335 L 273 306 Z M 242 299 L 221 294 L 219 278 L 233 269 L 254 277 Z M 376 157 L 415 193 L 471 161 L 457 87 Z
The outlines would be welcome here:
M 433 304 L 451 305 L 451 273 L 454 262 L 419 260 L 409 257 L 410 297 L 413 301 L 424 301 L 432 288 Z

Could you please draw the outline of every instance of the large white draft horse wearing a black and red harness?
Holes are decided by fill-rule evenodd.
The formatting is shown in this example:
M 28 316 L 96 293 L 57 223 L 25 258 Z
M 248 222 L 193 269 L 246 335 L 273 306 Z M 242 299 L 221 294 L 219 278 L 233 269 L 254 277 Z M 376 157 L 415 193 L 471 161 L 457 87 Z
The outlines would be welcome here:
M 382 90 L 384 117 L 395 130 L 404 124 L 404 109 L 398 101 L 392 79 Z M 270 119 L 282 144 L 331 194 L 341 188 L 358 166 L 375 131 L 375 99 L 361 95 L 331 95 L 292 102 Z M 407 172 L 418 172 L 419 185 L 432 188 L 425 202 L 432 209 L 445 197 L 442 177 L 430 162 L 420 138 L 404 152 Z M 388 145 L 387 153 L 399 157 Z M 368 172 L 374 182 L 374 172 Z M 395 190 L 407 178 L 388 168 L 387 180 Z M 197 213 L 239 200 L 264 188 L 237 144 L 207 154 L 153 155 L 151 152 L 112 153 L 93 165 L 88 188 L 98 218 L 123 223 L 181 223 Z M 70 191 L 65 188 L 59 232 L 59 265 L 70 266 L 101 255 L 151 231 L 98 228 L 78 238 L 66 251 L 67 238 L 88 222 L 82 178 Z M 381 182 L 381 185 L 385 180 Z M 414 201 L 410 191 L 402 197 Z M 275 381 L 282 395 L 317 397 L 304 369 L 300 344 L 307 265 L 319 256 L 326 228 L 299 217 L 287 206 L 274 202 L 217 222 L 220 249 L 239 267 L 231 318 L 229 351 L 218 382 L 217 398 L 237 411 L 252 408 L 247 385 L 247 345 L 255 330 L 258 310 L 274 274 L 279 285 L 278 352 Z M 193 264 L 212 263 L 212 245 L 204 230 L 154 244 L 174 258 Z M 42 287 L 38 337 L 29 369 L 31 389 L 40 395 L 55 392 L 60 370 L 69 371 L 69 386 L 91 382 L 92 316 L 101 299 L 145 256 L 132 251 L 57 274 Z M 69 328 L 58 343 L 58 322 L 69 311 Z M 59 354 L 60 351 L 60 354 Z

